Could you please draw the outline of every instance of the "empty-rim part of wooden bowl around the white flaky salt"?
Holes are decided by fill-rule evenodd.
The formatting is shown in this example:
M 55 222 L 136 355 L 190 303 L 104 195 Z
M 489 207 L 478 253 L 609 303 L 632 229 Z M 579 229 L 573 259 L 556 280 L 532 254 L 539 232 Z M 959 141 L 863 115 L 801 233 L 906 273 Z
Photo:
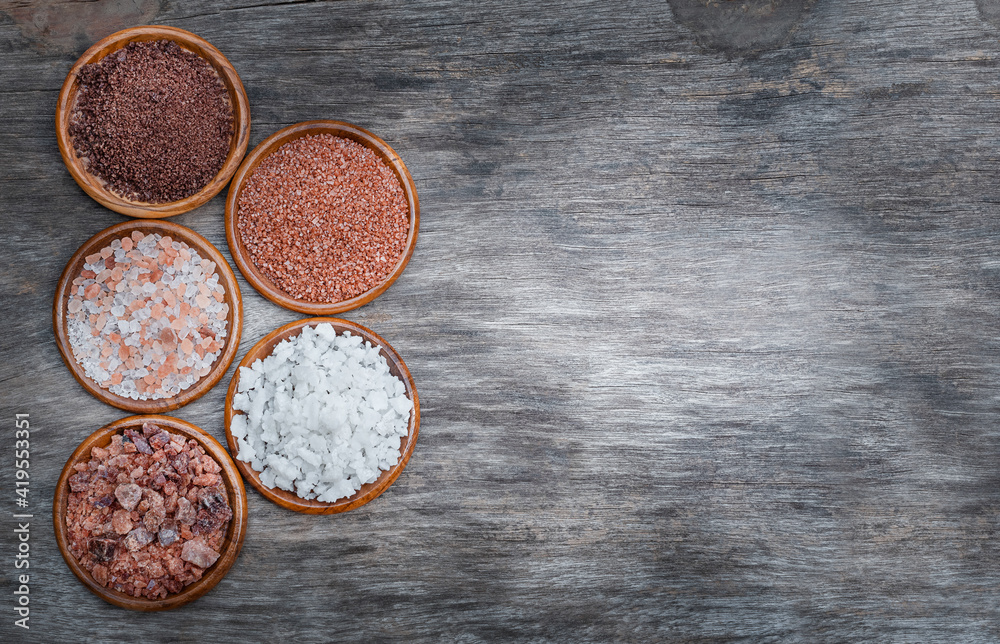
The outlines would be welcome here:
M 389 365 L 390 373 L 403 381 L 403 385 L 406 387 L 406 396 L 413 401 L 413 411 L 410 413 L 410 424 L 407 435 L 400 440 L 399 461 L 389 470 L 383 470 L 374 483 L 362 485 L 361 489 L 352 496 L 339 499 L 333 503 L 307 500 L 285 490 L 267 487 L 261 482 L 259 472 L 251 469 L 249 463 L 234 457 L 236 467 L 243 474 L 243 477 L 250 482 L 250 485 L 257 488 L 258 492 L 284 508 L 306 514 L 336 514 L 338 512 L 346 512 L 361 507 L 385 492 L 399 478 L 403 468 L 409 462 L 410 455 L 413 454 L 413 446 L 417 442 L 417 433 L 420 430 L 420 401 L 417 398 L 417 388 L 413 383 L 413 376 L 410 375 L 410 370 L 406 368 L 403 359 L 399 357 L 395 349 L 389 346 L 388 342 L 360 324 L 339 318 L 306 318 L 291 322 L 264 336 L 260 342 L 250 349 L 246 357 L 243 358 L 243 361 L 240 362 L 240 367 L 249 367 L 254 361 L 258 359 L 263 360 L 271 354 L 274 347 L 282 340 L 297 336 L 306 326 L 316 326 L 323 322 L 329 322 L 338 334 L 350 331 L 351 335 L 360 335 L 363 339 L 371 342 L 372 345 L 378 346 L 381 349 L 380 353 L 385 357 Z M 229 392 L 226 394 L 226 443 L 229 445 L 229 451 L 234 455 L 238 453 L 238 449 L 236 447 L 236 439 L 233 438 L 233 434 L 229 428 L 233 420 L 233 415 L 242 413 L 233 409 L 233 396 L 236 394 L 236 387 L 239 381 L 240 370 L 237 368 L 236 373 L 233 374 L 232 381 L 229 383 Z

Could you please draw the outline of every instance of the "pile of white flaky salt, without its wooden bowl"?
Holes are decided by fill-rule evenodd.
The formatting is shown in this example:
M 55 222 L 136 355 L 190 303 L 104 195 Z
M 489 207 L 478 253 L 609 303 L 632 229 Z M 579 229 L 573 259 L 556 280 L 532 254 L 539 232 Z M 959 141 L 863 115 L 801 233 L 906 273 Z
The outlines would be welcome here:
M 230 432 L 261 482 L 330 503 L 399 462 L 413 402 L 377 346 L 307 326 L 239 370 Z

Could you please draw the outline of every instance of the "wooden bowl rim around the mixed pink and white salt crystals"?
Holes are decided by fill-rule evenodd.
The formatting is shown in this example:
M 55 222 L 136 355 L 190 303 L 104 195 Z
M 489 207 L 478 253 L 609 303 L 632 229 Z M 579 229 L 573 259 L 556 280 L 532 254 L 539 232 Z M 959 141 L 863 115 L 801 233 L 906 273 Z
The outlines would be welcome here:
M 201 380 L 171 398 L 133 400 L 108 391 L 87 376 L 83 366 L 76 361 L 73 349 L 69 343 L 66 306 L 69 303 L 73 280 L 83 270 L 87 255 L 91 255 L 108 246 L 116 238 L 121 239 L 132 234 L 132 231 L 135 230 L 141 231 L 143 234 L 159 233 L 164 236 L 169 235 L 173 239 L 182 241 L 198 251 L 202 259 L 209 259 L 215 262 L 215 270 L 219 274 L 219 284 L 222 285 L 226 292 L 226 303 L 229 305 L 229 316 L 226 318 L 228 335 L 226 336 L 226 344 L 222 348 L 222 355 L 212 365 L 212 370 L 202 377 Z M 115 224 L 110 228 L 105 228 L 88 239 L 76 251 L 73 257 L 70 258 L 69 263 L 66 264 L 66 268 L 63 270 L 62 277 L 59 278 L 59 284 L 56 286 L 56 297 L 52 304 L 52 325 L 55 328 L 56 346 L 59 347 L 59 353 L 62 354 L 63 361 L 69 367 L 73 377 L 76 378 L 77 382 L 84 389 L 96 398 L 119 409 L 142 414 L 155 414 L 177 409 L 192 400 L 200 398 L 222 379 L 222 376 L 226 373 L 226 369 L 229 368 L 229 365 L 233 362 L 233 358 L 236 357 L 236 351 L 240 346 L 240 335 L 243 332 L 243 298 L 240 296 L 240 287 L 236 283 L 236 275 L 233 273 L 233 269 L 229 268 L 226 258 L 207 239 L 189 228 L 169 221 L 133 219 Z

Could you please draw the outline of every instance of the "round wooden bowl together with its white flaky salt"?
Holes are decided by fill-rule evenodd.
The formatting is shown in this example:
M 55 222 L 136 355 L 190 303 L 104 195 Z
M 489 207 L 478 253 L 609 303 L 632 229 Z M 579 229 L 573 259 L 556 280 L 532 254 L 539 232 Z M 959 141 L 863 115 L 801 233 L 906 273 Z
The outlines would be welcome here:
M 312 318 L 286 325 L 240 363 L 226 437 L 254 487 L 301 512 L 367 503 L 412 453 L 419 403 L 406 365 L 360 325 Z

